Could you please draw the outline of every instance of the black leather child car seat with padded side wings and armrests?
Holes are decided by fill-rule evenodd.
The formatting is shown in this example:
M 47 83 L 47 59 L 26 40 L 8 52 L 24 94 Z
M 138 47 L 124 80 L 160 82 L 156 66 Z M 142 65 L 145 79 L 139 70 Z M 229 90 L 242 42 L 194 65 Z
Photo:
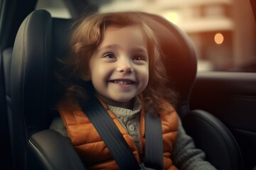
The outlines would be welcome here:
M 184 120 L 184 127 L 195 138 L 197 147 L 206 152 L 208 161 L 218 169 L 242 169 L 240 150 L 225 125 L 209 113 L 191 112 L 187 107 L 188 94 L 196 78 L 196 53 L 188 36 L 164 18 L 147 13 L 144 16 L 158 33 L 169 68 L 170 86 L 174 86 L 181 96 L 177 111 Z M 15 169 L 85 169 L 65 137 L 48 130 L 53 113 L 50 101 L 53 99 L 55 57 L 65 55 L 71 22 L 52 18 L 45 10 L 33 11 L 16 35 L 9 111 Z M 213 136 L 210 138 L 213 147 L 209 139 L 203 137 L 206 134 Z

